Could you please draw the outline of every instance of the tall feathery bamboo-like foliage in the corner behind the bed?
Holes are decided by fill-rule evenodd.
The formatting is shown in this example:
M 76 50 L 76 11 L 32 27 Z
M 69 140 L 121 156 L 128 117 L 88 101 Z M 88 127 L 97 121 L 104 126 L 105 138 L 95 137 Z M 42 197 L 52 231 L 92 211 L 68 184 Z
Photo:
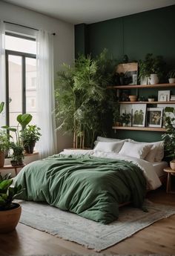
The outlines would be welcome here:
M 111 60 L 104 50 L 96 59 L 79 56 L 75 65 L 63 65 L 56 83 L 56 121 L 59 129 L 85 135 L 85 146 L 91 147 L 96 134 L 105 131 L 108 113 L 107 85 L 113 78 Z

